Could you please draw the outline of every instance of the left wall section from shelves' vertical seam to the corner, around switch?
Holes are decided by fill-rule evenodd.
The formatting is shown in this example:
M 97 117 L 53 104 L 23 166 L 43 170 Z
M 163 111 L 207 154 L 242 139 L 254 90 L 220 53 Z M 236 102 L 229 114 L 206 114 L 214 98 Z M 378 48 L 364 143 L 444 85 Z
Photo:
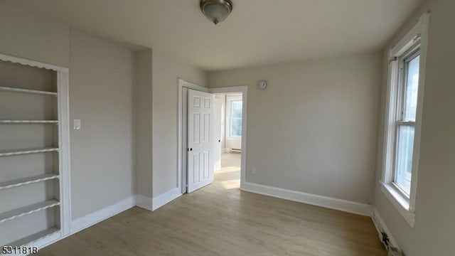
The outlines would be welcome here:
M 134 54 L 85 33 L 70 34 L 73 219 L 132 196 Z

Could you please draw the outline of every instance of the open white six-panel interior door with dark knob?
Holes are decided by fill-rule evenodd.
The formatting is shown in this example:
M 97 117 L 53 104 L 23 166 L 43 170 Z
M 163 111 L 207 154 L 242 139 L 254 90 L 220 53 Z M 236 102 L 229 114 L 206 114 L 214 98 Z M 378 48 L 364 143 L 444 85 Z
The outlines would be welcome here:
M 188 193 L 213 182 L 213 95 L 188 90 Z

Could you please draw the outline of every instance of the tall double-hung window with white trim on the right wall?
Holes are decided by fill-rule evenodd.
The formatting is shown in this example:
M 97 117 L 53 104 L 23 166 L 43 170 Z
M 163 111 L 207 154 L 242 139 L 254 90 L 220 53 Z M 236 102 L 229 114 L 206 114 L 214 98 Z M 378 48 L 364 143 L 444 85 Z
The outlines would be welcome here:
M 381 190 L 413 226 L 429 14 L 389 51 Z

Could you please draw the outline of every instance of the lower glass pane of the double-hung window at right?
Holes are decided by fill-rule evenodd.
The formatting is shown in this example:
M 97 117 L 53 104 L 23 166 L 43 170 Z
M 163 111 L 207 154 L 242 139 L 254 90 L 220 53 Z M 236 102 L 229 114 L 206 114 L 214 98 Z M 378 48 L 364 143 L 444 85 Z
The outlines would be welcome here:
M 398 127 L 397 159 L 395 161 L 395 183 L 407 194 L 411 190 L 412 153 L 414 149 L 414 127 Z

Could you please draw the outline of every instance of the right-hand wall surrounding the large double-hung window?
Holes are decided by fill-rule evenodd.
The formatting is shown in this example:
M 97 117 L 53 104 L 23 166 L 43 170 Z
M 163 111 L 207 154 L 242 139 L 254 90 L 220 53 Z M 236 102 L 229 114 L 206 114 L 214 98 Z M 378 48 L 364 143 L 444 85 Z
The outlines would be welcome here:
M 387 47 L 393 46 L 424 11 L 431 11 L 414 228 L 385 198 L 378 183 L 375 189 L 375 207 L 409 256 L 455 255 L 454 10 L 453 0 L 427 1 Z M 386 75 L 385 72 L 382 95 Z M 382 100 L 382 120 L 384 104 Z M 382 130 L 378 143 L 377 181 L 382 169 Z

